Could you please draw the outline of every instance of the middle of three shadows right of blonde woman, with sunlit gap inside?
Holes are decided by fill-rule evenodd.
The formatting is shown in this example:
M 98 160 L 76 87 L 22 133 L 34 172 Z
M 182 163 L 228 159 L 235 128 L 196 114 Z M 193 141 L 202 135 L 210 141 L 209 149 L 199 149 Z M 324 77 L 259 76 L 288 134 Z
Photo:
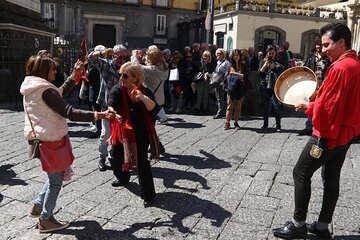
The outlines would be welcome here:
M 177 180 L 189 180 L 200 183 L 203 189 L 210 189 L 210 187 L 207 185 L 206 178 L 194 172 L 189 172 L 189 171 L 184 172 L 170 168 L 157 168 L 157 167 L 152 167 L 152 171 L 153 171 L 153 177 L 163 179 L 163 183 L 166 188 L 186 190 L 188 192 L 197 192 L 198 190 L 196 188 L 189 188 L 175 184 Z

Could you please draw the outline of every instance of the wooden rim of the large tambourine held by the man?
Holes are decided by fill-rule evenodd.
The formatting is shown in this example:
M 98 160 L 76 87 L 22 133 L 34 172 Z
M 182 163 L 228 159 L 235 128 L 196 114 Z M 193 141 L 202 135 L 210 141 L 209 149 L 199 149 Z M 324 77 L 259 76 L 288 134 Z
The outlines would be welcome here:
M 286 70 L 285 70 L 284 72 L 282 72 L 282 73 L 280 74 L 280 76 L 276 79 L 276 81 L 275 81 L 275 86 L 274 86 L 274 92 L 275 92 L 276 98 L 277 98 L 282 104 L 284 104 L 285 106 L 294 107 L 293 104 L 286 103 L 286 102 L 284 102 L 284 101 L 280 98 L 280 96 L 279 96 L 280 86 L 281 86 L 282 82 L 283 82 L 287 77 L 289 77 L 289 76 L 292 75 L 292 74 L 298 73 L 298 72 L 309 72 L 309 73 L 311 73 L 311 74 L 314 76 L 314 79 L 311 79 L 311 80 L 314 80 L 316 83 L 318 83 L 318 79 L 317 79 L 317 77 L 316 77 L 316 74 L 315 74 L 315 72 L 314 72 L 311 68 L 308 68 L 308 67 L 306 67 L 306 66 L 295 66 L 295 67 L 291 67 L 291 68 L 286 69 Z M 312 95 L 311 95 L 309 98 L 311 99 L 314 94 L 316 94 L 316 89 L 314 90 L 314 92 L 312 93 Z

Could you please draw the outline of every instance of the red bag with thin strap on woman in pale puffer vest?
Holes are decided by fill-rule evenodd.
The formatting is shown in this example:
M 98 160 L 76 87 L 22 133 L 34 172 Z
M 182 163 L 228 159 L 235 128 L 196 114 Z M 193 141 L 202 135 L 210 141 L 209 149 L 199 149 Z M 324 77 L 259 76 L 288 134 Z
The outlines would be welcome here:
M 34 141 L 33 144 L 30 145 L 32 150 L 29 151 L 29 157 L 31 159 L 40 158 L 42 169 L 48 173 L 62 172 L 68 169 L 75 159 L 74 154 L 72 153 L 69 136 L 65 135 L 62 139 L 55 142 L 40 141 L 36 136 L 34 126 L 26 107 L 25 111 L 35 136 L 34 140 L 29 140 L 30 144 L 31 141 Z

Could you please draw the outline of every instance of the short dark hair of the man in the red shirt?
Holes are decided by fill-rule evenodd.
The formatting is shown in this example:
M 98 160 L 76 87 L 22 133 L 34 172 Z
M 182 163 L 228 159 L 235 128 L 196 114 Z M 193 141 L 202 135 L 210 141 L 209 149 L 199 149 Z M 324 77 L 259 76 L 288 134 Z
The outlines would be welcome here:
M 329 23 L 320 29 L 320 35 L 330 32 L 330 39 L 334 42 L 344 38 L 345 46 L 347 49 L 351 49 L 351 31 L 344 23 Z

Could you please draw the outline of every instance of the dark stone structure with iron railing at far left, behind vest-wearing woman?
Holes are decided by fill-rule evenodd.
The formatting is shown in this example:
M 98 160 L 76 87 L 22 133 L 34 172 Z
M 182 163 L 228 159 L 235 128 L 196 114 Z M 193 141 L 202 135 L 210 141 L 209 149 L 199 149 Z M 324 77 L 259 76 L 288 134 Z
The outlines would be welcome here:
M 24 63 L 52 49 L 55 33 L 40 15 L 40 0 L 0 1 L 0 102 L 19 102 Z

